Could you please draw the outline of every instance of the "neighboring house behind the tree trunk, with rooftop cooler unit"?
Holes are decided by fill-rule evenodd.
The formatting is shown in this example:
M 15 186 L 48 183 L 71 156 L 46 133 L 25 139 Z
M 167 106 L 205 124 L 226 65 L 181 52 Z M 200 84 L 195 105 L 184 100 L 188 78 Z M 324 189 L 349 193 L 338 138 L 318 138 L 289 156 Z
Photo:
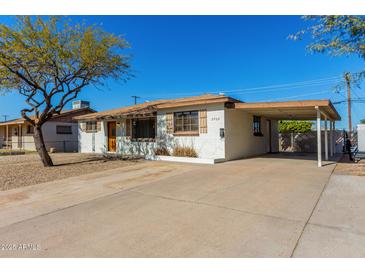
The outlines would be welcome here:
M 79 115 L 94 113 L 89 103 L 75 101 L 72 110 L 62 111 L 42 126 L 43 138 L 47 149 L 58 152 L 78 150 L 78 125 L 73 118 Z M 31 117 L 34 118 L 34 117 Z M 0 123 L 0 148 L 36 150 L 34 129 L 23 118 Z

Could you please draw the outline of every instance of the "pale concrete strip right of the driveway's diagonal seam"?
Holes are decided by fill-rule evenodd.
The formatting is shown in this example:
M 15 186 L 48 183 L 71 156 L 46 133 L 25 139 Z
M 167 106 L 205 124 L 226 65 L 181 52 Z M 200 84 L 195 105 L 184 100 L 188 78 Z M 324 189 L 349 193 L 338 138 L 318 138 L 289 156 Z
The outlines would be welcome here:
M 294 257 L 365 257 L 365 176 L 333 174 Z

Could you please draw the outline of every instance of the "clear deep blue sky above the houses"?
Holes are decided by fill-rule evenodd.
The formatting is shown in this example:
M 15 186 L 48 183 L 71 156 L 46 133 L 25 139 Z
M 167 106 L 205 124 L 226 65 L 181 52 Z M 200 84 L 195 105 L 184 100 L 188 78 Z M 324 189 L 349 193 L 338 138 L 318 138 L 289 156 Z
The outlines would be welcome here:
M 1 16 L 11 24 L 13 17 Z M 135 77 L 127 83 L 109 81 L 102 91 L 85 88 L 80 99 L 96 110 L 117 108 L 159 98 L 175 98 L 224 91 L 246 102 L 301 99 L 341 101 L 345 92 L 333 87 L 344 72 L 364 68 L 364 60 L 309 54 L 308 41 L 287 36 L 302 29 L 298 16 L 78 16 L 75 21 L 102 23 L 106 31 L 123 34 L 131 44 Z M 317 79 L 320 79 L 317 81 Z M 303 82 L 306 84 L 282 84 Z M 278 86 L 279 87 L 275 87 Z M 261 87 L 274 86 L 262 89 Z M 259 89 L 255 89 L 258 88 Z M 365 97 L 355 90 L 354 97 Z M 0 97 L 0 115 L 19 116 L 24 98 L 16 93 Z M 346 105 L 336 104 L 347 125 Z M 365 118 L 364 104 L 353 104 L 353 123 Z M 0 120 L 3 117 L 0 116 Z

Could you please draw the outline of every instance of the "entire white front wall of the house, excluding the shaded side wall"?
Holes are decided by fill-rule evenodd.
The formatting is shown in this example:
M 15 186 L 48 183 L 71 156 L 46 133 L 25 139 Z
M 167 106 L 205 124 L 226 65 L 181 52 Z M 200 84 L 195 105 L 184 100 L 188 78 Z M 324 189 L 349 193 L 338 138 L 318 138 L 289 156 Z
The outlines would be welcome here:
M 174 136 L 166 133 L 166 113 L 187 110 L 207 110 L 206 134 L 200 133 L 199 136 Z M 146 158 L 154 157 L 154 150 L 157 146 L 165 144 L 172 150 L 174 145 L 192 146 L 197 151 L 200 158 L 222 159 L 225 157 L 224 138 L 220 138 L 220 128 L 224 128 L 224 104 L 210 106 L 179 107 L 159 111 L 157 113 L 157 132 L 155 142 L 135 142 L 125 137 L 125 120 L 117 120 L 116 142 L 117 153 L 125 155 L 143 155 Z M 79 126 L 79 151 L 103 153 L 107 151 L 107 121 L 101 126 L 101 131 L 97 133 L 87 133 L 80 130 Z M 94 134 L 95 151 L 93 151 L 92 135 Z

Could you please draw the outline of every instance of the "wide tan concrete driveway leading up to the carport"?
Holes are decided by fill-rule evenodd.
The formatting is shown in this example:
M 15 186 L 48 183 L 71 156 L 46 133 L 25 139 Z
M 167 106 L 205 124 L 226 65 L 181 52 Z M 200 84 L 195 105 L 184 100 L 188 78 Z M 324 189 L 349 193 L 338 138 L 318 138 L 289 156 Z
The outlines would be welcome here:
M 0 256 L 290 257 L 334 166 L 146 161 L 2 192 Z

